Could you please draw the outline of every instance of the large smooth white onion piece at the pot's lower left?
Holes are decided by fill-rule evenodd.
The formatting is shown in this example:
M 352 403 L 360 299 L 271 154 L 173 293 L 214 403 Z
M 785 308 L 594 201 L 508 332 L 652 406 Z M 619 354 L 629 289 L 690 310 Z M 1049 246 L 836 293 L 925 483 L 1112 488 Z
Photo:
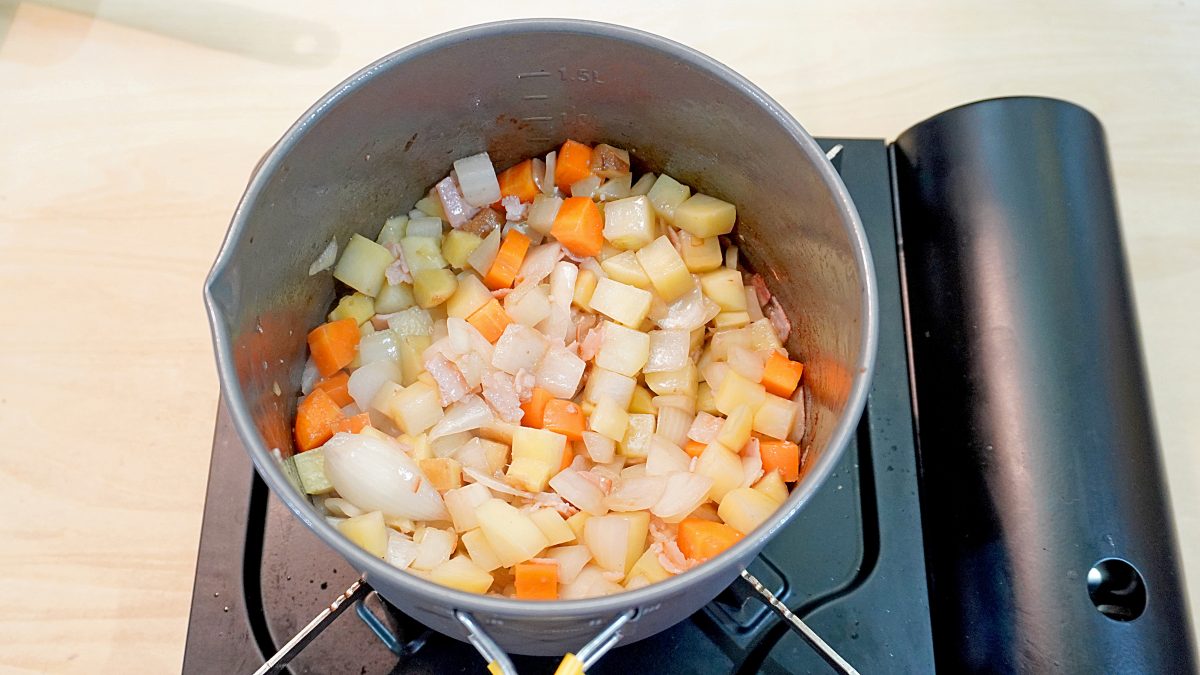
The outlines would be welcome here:
M 395 442 L 338 432 L 324 453 L 329 482 L 359 508 L 413 520 L 449 518 L 433 484 Z

